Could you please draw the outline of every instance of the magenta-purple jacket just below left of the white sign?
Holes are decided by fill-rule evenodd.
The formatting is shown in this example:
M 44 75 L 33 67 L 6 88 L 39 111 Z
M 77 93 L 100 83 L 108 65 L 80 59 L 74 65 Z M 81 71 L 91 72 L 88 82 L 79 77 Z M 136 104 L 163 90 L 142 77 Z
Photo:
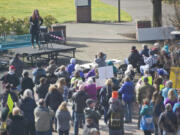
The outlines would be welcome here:
M 96 84 L 86 85 L 84 88 L 85 88 L 85 92 L 87 93 L 89 98 L 91 98 L 93 100 L 97 99 Z

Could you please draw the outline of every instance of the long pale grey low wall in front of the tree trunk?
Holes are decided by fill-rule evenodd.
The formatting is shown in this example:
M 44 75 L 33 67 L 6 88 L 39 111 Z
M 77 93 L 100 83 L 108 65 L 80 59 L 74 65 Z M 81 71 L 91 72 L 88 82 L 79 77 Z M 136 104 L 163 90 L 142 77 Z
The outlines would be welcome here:
M 166 40 L 172 39 L 173 27 L 138 28 L 136 39 L 138 41 Z

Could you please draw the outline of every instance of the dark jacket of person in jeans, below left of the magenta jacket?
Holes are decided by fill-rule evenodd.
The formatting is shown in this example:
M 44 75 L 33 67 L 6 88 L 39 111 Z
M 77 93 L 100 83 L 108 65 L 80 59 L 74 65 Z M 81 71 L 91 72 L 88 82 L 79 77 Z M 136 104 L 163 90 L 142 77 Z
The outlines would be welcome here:
M 86 107 L 86 99 L 88 99 L 85 91 L 77 91 L 74 93 L 72 100 L 74 103 L 74 111 L 76 113 L 83 113 Z

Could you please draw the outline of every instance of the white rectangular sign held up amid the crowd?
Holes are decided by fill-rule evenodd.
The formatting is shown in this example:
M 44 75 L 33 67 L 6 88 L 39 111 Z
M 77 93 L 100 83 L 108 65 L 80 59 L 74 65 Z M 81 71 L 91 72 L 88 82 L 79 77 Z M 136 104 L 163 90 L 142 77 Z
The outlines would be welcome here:
M 114 77 L 112 66 L 100 67 L 98 68 L 98 73 L 99 79 L 110 79 Z

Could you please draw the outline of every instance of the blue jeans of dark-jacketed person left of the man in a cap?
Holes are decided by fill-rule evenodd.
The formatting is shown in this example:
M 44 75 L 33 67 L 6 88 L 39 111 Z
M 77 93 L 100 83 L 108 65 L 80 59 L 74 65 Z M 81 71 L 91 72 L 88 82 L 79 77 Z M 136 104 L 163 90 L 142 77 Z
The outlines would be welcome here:
M 74 112 L 74 135 L 78 135 L 79 123 L 84 120 L 83 113 Z

